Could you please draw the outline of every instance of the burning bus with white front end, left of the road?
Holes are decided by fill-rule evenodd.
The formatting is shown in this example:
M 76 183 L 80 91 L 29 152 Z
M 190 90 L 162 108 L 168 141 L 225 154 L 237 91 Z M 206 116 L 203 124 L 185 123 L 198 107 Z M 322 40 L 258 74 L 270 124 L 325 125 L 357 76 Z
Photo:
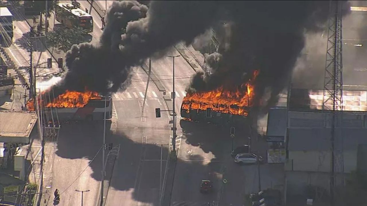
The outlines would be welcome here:
M 75 120 L 101 120 L 112 118 L 112 97 L 102 97 L 97 92 L 75 92 L 66 90 L 65 93 L 50 98 L 51 92 L 42 92 L 37 96 L 41 111 L 48 118 L 58 119 L 59 122 Z M 34 111 L 33 100 L 28 101 L 27 110 Z M 106 110 L 105 110 L 106 106 Z

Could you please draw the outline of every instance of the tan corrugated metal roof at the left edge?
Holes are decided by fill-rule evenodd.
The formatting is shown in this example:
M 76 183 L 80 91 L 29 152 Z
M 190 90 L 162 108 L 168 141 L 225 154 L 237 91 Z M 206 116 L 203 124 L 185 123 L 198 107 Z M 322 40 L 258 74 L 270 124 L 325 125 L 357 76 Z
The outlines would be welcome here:
M 0 111 L 0 137 L 29 137 L 36 121 L 34 111 Z

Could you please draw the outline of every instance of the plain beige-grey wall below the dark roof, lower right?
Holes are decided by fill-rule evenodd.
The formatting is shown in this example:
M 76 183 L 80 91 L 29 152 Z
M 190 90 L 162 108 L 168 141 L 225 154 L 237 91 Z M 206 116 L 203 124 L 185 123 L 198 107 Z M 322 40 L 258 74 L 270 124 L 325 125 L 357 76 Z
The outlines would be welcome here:
M 330 152 L 328 151 L 289 151 L 288 154 L 286 170 L 330 172 Z M 338 160 L 335 159 L 335 161 Z M 357 150 L 344 151 L 344 172 L 350 173 L 356 169 Z

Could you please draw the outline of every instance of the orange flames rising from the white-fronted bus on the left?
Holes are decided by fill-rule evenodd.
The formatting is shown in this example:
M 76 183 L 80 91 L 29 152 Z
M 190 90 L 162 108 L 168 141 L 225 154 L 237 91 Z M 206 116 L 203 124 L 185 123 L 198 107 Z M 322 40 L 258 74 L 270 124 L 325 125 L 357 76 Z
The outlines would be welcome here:
M 48 102 L 48 95 L 44 95 L 45 92 L 42 92 L 41 95 L 37 97 L 37 101 L 44 106 L 45 102 Z M 42 100 L 40 101 L 40 99 Z M 46 101 L 45 101 L 46 99 Z M 73 107 L 84 107 L 88 104 L 91 99 L 102 99 L 101 96 L 98 95 L 98 92 L 75 92 L 66 90 L 65 93 L 59 95 L 52 102 L 48 102 L 45 107 L 58 107 L 58 108 L 73 108 Z M 34 102 L 33 100 L 28 101 L 27 110 L 34 111 Z

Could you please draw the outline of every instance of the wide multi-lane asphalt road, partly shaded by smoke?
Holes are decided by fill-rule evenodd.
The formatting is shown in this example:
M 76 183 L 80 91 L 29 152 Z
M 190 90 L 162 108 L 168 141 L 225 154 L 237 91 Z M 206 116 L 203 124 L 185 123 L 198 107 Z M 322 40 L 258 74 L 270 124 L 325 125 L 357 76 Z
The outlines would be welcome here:
M 86 1 L 80 3 L 82 9 L 90 9 Z M 97 3 L 103 7 L 103 2 Z M 97 43 L 97 37 L 101 35 L 98 29 L 101 22 L 95 11 L 92 10 L 91 14 L 95 22 L 92 42 Z M 172 48 L 168 55 L 179 54 Z M 172 91 L 172 66 L 172 58 L 152 61 L 152 71 L 166 88 L 167 95 Z M 185 59 L 175 59 L 175 110 L 178 114 L 185 88 L 194 73 Z M 128 82 L 130 84 L 126 85 L 125 90 L 113 95 L 117 118 L 112 119 L 112 127 L 116 127 L 116 130 L 111 133 L 109 123 L 106 143 L 120 144 L 120 154 L 113 171 L 106 205 L 158 205 L 159 202 L 161 148 L 154 143 L 169 142 L 171 125 L 168 124 L 170 116 L 167 112 L 162 112 L 161 118 L 155 117 L 155 108 L 167 110 L 168 105 L 168 109 L 171 109 L 172 102 L 164 102 L 163 93 L 158 91 L 153 82 L 150 82 L 146 92 L 147 79 L 147 74 L 141 68 L 134 68 L 131 81 Z M 183 120 L 179 120 L 177 126 L 177 134 L 182 134 L 182 140 L 173 187 L 166 188 L 166 191 L 172 190 L 171 205 L 202 205 L 208 201 L 238 205 L 243 202 L 243 195 L 247 191 L 257 188 L 254 183 L 257 168 L 235 165 L 229 156 L 232 150 L 229 128 Z M 238 135 L 234 146 L 246 143 L 246 128 L 239 128 L 236 133 Z M 101 154 L 91 160 L 102 146 L 102 135 L 102 122 L 92 125 L 79 123 L 62 128 L 52 179 L 53 188 L 65 191 L 61 195 L 60 205 L 78 204 L 81 195 L 75 190 L 90 190 L 84 193 L 85 205 L 96 205 L 98 202 Z M 163 159 L 167 158 L 167 151 L 168 146 L 165 146 Z M 166 161 L 163 161 L 163 172 L 165 166 Z M 271 171 L 264 169 L 267 170 Z M 200 194 L 202 179 L 214 182 L 215 190 L 212 194 Z M 222 183 L 222 179 L 227 179 L 228 183 Z

